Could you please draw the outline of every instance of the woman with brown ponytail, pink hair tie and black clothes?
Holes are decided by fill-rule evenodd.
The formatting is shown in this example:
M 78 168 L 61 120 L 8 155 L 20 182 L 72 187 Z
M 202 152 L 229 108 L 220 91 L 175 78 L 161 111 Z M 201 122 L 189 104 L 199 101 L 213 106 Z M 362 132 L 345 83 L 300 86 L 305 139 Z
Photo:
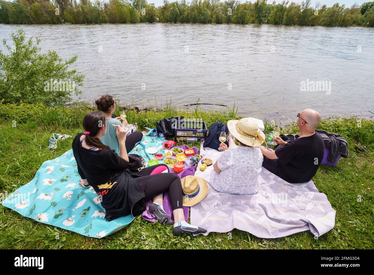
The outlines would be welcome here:
M 174 234 L 206 232 L 184 220 L 181 180 L 178 175 L 168 172 L 168 166 L 153 165 L 137 173 L 128 169 L 127 137 L 122 126 L 116 126 L 120 155 L 100 141 L 107 132 L 104 113 L 93 111 L 86 114 L 83 128 L 85 134 L 78 134 L 72 144 L 74 158 L 82 186 L 92 186 L 100 196 L 105 219 L 111 221 L 129 214 L 136 217 L 145 210 L 145 201 L 151 199 L 153 203 L 149 211 L 159 223 L 172 225 L 171 217 L 162 207 L 162 194 L 168 192 L 174 215 Z

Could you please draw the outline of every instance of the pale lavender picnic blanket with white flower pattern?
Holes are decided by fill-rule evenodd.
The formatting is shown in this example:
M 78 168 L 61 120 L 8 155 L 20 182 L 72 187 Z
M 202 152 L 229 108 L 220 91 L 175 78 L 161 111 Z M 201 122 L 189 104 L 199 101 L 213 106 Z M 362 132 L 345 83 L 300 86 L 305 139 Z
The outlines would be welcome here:
M 200 154 L 215 162 L 221 152 L 202 146 Z M 198 167 L 195 175 L 206 178 L 212 166 L 205 171 Z M 208 184 L 208 195 L 191 207 L 191 224 L 205 228 L 204 235 L 237 228 L 259 238 L 279 238 L 306 230 L 318 237 L 334 227 L 335 210 L 313 181 L 291 184 L 265 168 L 260 177 L 261 188 L 254 195 L 220 193 Z

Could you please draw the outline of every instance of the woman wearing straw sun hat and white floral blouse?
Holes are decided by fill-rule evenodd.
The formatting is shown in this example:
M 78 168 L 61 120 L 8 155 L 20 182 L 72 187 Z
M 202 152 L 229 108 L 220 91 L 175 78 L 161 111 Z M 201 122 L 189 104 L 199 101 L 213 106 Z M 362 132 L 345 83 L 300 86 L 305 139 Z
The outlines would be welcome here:
M 250 118 L 229 120 L 229 147 L 221 143 L 223 153 L 214 163 L 206 181 L 218 192 L 232 195 L 255 194 L 260 189 L 260 172 L 263 162 L 261 150 L 255 146 L 265 141 L 257 122 Z M 236 146 L 233 137 L 239 143 Z

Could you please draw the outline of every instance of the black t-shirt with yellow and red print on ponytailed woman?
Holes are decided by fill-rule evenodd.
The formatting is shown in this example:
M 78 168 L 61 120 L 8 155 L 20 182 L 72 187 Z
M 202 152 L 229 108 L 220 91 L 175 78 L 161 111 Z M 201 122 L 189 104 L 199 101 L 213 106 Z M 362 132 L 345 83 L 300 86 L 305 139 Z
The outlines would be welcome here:
M 101 196 L 101 205 L 105 208 L 107 220 L 133 214 L 142 210 L 144 191 L 132 177 L 128 162 L 120 158 L 114 150 L 89 150 L 82 147 L 78 134 L 73 141 L 73 154 L 77 161 L 77 169 L 82 179 L 86 179 L 95 192 Z M 138 207 L 133 209 L 139 202 Z

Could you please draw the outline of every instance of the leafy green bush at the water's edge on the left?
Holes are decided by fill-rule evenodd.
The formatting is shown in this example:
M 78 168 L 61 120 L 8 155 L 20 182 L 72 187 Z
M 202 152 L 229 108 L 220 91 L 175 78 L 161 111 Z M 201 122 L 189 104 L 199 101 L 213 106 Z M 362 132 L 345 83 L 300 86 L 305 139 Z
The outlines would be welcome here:
M 77 56 L 64 60 L 55 51 L 41 54 L 40 39 L 26 40 L 26 33 L 18 29 L 11 34 L 13 46 L 3 40 L 9 54 L 0 51 L 0 100 L 3 103 L 43 103 L 62 105 L 80 95 L 84 74 L 68 67 Z

